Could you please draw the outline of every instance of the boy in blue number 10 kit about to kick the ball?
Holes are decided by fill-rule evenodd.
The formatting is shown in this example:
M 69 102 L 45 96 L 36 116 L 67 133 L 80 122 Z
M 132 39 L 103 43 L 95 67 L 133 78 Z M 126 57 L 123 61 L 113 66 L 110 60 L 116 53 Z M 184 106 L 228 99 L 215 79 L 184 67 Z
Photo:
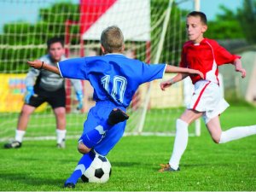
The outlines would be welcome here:
M 63 78 L 89 80 L 94 88 L 96 106 L 88 113 L 78 145 L 83 156 L 67 179 L 64 185 L 67 188 L 75 187 L 95 153 L 105 156 L 119 142 L 128 119 L 125 110 L 140 84 L 161 79 L 164 73 L 194 73 L 203 78 L 197 70 L 166 64 L 148 65 L 125 57 L 122 55 L 124 37 L 118 26 L 109 26 L 102 32 L 101 44 L 104 55 L 61 61 L 58 67 L 42 61 L 27 61 L 30 67 L 44 68 Z

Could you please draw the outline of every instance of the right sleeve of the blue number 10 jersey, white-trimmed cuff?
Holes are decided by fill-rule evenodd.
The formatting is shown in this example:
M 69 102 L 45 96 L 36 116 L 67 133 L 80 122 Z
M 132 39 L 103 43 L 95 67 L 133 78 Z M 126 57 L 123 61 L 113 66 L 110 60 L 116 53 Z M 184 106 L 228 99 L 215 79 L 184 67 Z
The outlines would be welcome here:
M 161 79 L 166 71 L 166 64 L 146 64 L 143 63 L 142 83 Z

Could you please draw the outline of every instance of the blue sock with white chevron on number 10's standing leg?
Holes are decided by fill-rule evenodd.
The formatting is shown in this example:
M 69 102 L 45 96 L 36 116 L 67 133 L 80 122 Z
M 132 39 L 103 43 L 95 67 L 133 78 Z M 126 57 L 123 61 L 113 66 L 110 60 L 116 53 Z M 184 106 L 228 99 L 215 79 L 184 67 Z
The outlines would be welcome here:
M 65 183 L 77 183 L 79 178 L 83 175 L 84 171 L 90 166 L 94 158 L 95 154 L 91 151 L 88 154 L 84 154 L 79 160 L 78 166 L 75 168 L 72 175 L 67 178 Z

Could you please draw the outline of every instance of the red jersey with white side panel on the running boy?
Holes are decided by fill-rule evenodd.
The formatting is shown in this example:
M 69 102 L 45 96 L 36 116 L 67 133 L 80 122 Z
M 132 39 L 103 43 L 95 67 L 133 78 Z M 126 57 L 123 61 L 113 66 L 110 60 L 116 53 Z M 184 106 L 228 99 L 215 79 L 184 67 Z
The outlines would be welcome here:
M 218 84 L 218 66 L 233 63 L 239 55 L 232 55 L 216 41 L 204 38 L 200 44 L 188 41 L 183 45 L 180 67 L 201 71 L 206 80 Z M 189 75 L 195 84 L 201 79 L 199 75 Z

